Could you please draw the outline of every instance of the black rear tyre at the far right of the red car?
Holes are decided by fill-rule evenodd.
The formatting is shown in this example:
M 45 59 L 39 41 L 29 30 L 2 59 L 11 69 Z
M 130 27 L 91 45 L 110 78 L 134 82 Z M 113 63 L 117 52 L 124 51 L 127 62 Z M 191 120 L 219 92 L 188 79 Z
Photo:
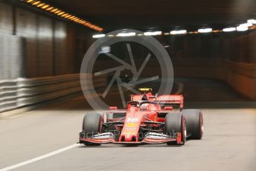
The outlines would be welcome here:
M 182 114 L 185 116 L 187 132 L 190 139 L 200 140 L 203 134 L 202 112 L 199 109 L 184 109 Z

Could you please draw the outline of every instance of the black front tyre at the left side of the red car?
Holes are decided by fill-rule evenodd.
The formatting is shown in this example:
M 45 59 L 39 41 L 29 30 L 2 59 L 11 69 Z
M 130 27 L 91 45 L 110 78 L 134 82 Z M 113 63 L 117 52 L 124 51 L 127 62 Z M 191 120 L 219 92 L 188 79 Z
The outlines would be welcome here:
M 85 137 L 91 137 L 100 132 L 101 129 L 101 114 L 89 113 L 83 117 L 83 132 Z M 100 143 L 84 143 L 86 146 L 100 146 Z

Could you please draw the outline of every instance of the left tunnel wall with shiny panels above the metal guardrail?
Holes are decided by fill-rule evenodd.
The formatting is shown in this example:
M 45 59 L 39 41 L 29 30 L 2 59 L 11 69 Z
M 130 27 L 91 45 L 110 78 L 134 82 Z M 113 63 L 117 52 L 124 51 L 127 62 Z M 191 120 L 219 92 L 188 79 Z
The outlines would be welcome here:
M 9 74 L 0 79 L 13 79 L 13 75 L 32 78 L 77 73 L 91 41 L 88 34 L 92 34 L 89 29 L 71 22 L 0 2 L 0 36 L 4 35 L 0 51 L 8 49 L 9 56 L 15 54 L 21 68 L 11 74 L 15 69 L 9 65 L 8 57 L 1 55 L 4 58 L 1 65 L 8 68 Z M 16 43 L 8 44 L 13 39 Z M 19 51 L 12 51 L 17 46 L 21 47 Z

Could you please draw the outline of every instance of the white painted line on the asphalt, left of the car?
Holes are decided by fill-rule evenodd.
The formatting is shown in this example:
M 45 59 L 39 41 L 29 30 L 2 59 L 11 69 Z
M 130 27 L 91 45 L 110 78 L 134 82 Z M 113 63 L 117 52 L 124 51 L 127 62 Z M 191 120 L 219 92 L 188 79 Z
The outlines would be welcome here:
M 41 155 L 41 156 L 39 156 L 37 158 L 32 158 L 31 160 L 28 160 L 28 161 L 23 161 L 22 163 L 19 163 L 19 164 L 14 164 L 13 166 L 10 166 L 10 167 L 4 167 L 0 171 L 14 170 L 14 169 L 16 169 L 18 167 L 22 167 L 22 166 L 25 166 L 27 164 L 32 164 L 33 162 L 40 161 L 42 159 L 49 158 L 49 157 L 51 157 L 53 155 L 60 154 L 61 152 L 65 152 L 68 149 L 73 149 L 74 147 L 77 147 L 77 146 L 80 146 L 80 143 L 74 143 L 71 146 L 66 146 L 63 149 L 58 149 L 58 150 L 56 150 L 54 152 L 50 152 L 48 154 Z

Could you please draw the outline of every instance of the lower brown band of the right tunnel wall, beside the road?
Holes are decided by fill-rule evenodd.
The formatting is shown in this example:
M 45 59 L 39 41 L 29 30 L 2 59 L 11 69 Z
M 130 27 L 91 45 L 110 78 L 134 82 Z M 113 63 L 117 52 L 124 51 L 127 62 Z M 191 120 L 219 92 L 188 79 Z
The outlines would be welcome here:
M 223 80 L 240 94 L 256 100 L 256 65 L 225 59 L 173 59 L 175 77 Z

